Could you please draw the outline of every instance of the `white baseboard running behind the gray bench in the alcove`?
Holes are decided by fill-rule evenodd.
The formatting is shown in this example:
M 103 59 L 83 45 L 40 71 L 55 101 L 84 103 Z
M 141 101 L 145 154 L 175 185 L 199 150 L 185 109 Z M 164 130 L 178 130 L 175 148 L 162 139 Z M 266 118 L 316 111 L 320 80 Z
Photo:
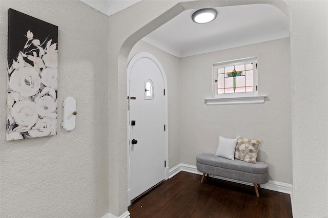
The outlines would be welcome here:
M 169 178 L 174 177 L 180 171 L 191 172 L 191 173 L 195 173 L 198 175 L 203 174 L 202 172 L 199 172 L 197 170 L 196 166 L 181 163 L 170 169 Z M 238 180 L 232 180 L 232 179 L 228 179 L 228 178 L 224 178 L 224 177 L 217 177 L 217 176 L 211 176 L 211 177 L 230 181 L 230 182 L 236 182 L 236 183 L 240 183 L 240 184 L 244 184 L 244 185 L 253 186 L 252 183 L 248 183 L 248 182 L 242 182 L 242 181 L 238 181 Z M 269 189 L 272 191 L 278 191 L 278 192 L 282 192 L 282 193 L 286 193 L 286 194 L 292 194 L 292 185 L 288 184 L 288 183 L 282 183 L 282 182 L 276 182 L 276 181 L 269 180 L 268 183 L 261 184 L 261 188 Z

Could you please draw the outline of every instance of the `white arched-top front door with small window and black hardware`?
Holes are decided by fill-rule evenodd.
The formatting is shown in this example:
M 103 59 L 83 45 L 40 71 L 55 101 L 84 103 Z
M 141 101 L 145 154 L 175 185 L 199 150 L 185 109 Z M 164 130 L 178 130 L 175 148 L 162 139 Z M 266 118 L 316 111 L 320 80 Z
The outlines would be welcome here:
M 129 200 L 133 200 L 165 179 L 165 91 L 152 59 L 143 57 L 129 64 L 133 64 L 129 68 Z

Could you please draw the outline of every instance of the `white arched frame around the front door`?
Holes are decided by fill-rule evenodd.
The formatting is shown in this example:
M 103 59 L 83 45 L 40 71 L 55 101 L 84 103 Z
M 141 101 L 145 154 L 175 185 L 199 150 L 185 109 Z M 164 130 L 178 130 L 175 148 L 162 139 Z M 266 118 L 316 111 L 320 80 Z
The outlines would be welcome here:
M 134 66 L 134 64 L 137 62 L 137 60 L 141 59 L 141 58 L 149 58 L 152 61 L 154 61 L 162 75 L 163 81 L 164 81 L 164 89 L 165 89 L 165 96 L 164 96 L 164 118 L 165 118 L 165 125 L 166 125 L 166 131 L 165 131 L 165 143 L 164 143 L 164 147 L 165 147 L 165 160 L 166 160 L 166 167 L 165 167 L 165 179 L 169 179 L 169 135 L 168 135 L 168 82 L 166 79 L 166 75 L 165 75 L 165 71 L 163 69 L 163 67 L 161 66 L 159 60 L 153 56 L 152 54 L 148 53 L 148 52 L 140 52 L 138 54 L 136 54 L 128 63 L 128 81 L 127 81 L 127 85 L 128 85 L 128 96 L 130 97 L 130 74 L 131 74 L 131 70 L 132 67 Z M 129 110 L 127 113 L 128 116 L 128 123 L 127 123 L 127 127 L 128 127 L 128 137 L 127 137 L 127 147 L 128 147 L 128 205 L 131 204 L 131 200 L 130 199 L 130 117 L 129 117 Z

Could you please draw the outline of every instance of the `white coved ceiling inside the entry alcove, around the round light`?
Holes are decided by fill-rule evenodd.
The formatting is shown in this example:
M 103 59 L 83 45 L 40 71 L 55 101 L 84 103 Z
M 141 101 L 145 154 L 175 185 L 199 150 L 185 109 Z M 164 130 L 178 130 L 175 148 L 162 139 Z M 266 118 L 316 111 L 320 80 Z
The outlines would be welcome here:
M 215 8 L 218 15 L 196 24 L 186 10 L 142 40 L 177 57 L 187 57 L 289 37 L 288 17 L 268 4 Z

